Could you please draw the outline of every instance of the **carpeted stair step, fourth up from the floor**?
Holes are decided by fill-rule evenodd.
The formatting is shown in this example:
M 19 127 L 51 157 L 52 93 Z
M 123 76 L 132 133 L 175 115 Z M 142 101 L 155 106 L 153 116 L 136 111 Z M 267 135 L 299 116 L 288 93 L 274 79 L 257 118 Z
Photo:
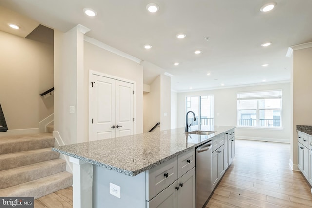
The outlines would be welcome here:
M 54 146 L 51 133 L 0 137 L 0 154 L 35 150 Z

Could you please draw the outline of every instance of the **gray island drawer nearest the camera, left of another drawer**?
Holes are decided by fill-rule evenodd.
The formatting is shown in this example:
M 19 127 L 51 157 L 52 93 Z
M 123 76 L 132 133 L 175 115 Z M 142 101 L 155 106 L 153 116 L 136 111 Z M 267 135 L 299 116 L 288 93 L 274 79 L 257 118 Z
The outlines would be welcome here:
M 177 180 L 177 158 L 174 157 L 146 171 L 146 200 L 150 201 L 160 191 Z

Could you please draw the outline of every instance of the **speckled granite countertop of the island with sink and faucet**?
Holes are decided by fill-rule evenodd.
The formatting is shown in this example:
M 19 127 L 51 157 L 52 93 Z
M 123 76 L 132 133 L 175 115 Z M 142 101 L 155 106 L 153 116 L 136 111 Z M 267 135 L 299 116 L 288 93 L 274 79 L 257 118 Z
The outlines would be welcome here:
M 184 128 L 178 128 L 53 147 L 52 150 L 109 170 L 135 176 L 233 128 L 235 127 L 201 127 L 201 130 L 216 131 L 210 135 L 185 134 Z M 198 130 L 198 126 L 191 127 L 189 131 L 194 130 Z

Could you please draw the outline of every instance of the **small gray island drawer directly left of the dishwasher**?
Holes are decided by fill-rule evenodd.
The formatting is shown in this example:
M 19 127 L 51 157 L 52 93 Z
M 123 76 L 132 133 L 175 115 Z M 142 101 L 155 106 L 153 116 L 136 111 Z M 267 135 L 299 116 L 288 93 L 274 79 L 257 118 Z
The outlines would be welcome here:
M 178 155 L 178 177 L 184 175 L 195 166 L 195 148 Z

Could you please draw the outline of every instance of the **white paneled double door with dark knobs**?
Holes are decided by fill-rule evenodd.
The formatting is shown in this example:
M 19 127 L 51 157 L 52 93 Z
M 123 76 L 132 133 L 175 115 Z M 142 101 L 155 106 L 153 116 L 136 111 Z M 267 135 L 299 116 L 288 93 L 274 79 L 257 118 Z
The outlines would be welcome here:
M 89 141 L 132 135 L 134 132 L 134 84 L 90 75 L 91 138 Z

